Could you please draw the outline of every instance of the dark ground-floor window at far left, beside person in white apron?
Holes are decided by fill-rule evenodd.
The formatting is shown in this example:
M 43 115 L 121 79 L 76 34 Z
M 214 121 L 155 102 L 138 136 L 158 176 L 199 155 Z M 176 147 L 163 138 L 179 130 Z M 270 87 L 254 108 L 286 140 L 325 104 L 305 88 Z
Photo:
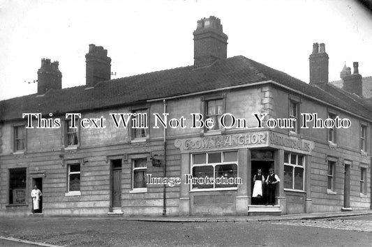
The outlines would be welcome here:
M 9 169 L 9 204 L 26 204 L 26 168 Z

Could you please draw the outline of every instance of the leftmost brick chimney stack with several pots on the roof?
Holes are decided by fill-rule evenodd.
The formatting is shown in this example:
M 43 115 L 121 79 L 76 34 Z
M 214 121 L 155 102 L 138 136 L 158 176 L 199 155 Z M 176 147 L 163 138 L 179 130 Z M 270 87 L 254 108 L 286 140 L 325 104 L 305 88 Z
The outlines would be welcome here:
M 43 95 L 51 88 L 62 88 L 62 73 L 58 65 L 58 61 L 50 63 L 50 59 L 41 59 L 41 67 L 38 70 L 38 95 Z

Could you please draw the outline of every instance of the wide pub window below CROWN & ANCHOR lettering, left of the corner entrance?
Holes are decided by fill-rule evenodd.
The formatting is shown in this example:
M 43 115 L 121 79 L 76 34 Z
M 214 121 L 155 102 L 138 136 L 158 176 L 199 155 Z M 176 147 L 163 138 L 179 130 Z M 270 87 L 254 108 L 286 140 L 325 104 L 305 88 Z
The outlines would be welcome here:
M 193 179 L 195 178 L 200 182 L 190 182 L 191 188 L 237 188 L 237 184 L 240 184 L 239 178 L 237 178 L 237 153 L 237 151 L 227 151 L 192 154 L 191 173 Z M 199 180 L 199 178 L 201 180 Z M 209 182 L 207 182 L 206 178 L 209 178 Z M 211 178 L 213 178 L 213 180 L 210 180 Z M 205 180 L 204 183 L 202 180 Z

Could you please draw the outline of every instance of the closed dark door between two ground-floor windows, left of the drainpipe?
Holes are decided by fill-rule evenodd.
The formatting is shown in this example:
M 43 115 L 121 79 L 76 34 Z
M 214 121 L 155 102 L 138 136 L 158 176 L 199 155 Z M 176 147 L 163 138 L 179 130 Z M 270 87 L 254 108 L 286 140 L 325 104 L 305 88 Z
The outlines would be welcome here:
M 111 160 L 112 208 L 121 207 L 121 159 Z

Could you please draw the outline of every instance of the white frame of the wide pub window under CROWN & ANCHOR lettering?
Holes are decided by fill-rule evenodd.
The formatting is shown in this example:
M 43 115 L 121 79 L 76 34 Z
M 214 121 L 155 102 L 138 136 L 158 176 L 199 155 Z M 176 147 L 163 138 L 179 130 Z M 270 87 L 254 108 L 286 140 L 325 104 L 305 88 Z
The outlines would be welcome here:
M 209 154 L 215 154 L 215 153 L 218 153 L 218 152 L 221 152 L 221 162 L 219 162 L 219 163 L 208 163 Z M 237 152 L 237 161 L 226 161 L 225 162 L 225 160 L 224 160 L 225 159 L 225 157 L 224 157 L 225 152 Z M 195 154 L 205 154 L 205 163 L 194 165 L 193 163 L 194 163 L 194 155 Z M 235 164 L 237 166 L 237 177 L 239 177 L 239 150 L 221 150 L 221 151 L 215 150 L 215 151 L 209 151 L 209 152 L 195 152 L 195 153 L 192 153 L 190 155 L 191 155 L 191 157 L 190 157 L 191 175 L 193 174 L 193 168 L 194 167 L 212 166 L 213 167 L 213 177 L 215 179 L 216 178 L 216 166 Z M 234 187 L 218 187 L 218 188 L 216 188 L 216 184 L 214 183 L 213 188 L 193 189 L 193 184 L 190 184 L 190 191 L 191 192 L 193 192 L 193 191 L 232 191 L 232 190 L 237 190 L 238 185 L 239 184 L 237 184 L 237 186 L 234 186 Z

